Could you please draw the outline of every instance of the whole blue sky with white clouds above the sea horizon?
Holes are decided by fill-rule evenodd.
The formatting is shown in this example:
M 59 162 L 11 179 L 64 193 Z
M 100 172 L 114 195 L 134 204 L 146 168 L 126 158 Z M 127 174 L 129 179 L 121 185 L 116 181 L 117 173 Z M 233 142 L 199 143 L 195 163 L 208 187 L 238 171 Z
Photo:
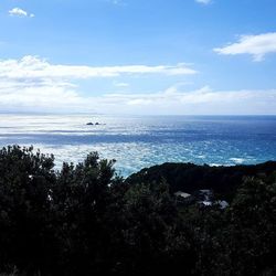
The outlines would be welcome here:
M 276 115 L 275 0 L 0 0 L 0 113 Z

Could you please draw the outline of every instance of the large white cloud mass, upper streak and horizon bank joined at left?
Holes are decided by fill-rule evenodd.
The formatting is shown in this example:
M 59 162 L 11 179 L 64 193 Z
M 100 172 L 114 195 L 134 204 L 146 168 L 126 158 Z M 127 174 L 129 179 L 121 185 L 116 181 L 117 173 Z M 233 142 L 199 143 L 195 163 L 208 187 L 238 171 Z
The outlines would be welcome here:
M 213 91 L 205 86 L 185 91 L 182 84 L 156 93 L 117 93 L 82 96 L 73 81 L 123 74 L 171 75 L 178 66 L 52 65 L 33 56 L 0 61 L 1 112 L 97 112 L 109 114 L 275 114 L 276 89 Z M 115 83 L 116 84 L 116 83 Z M 123 83 L 117 83 L 123 86 Z M 124 84 L 126 85 L 126 84 Z

